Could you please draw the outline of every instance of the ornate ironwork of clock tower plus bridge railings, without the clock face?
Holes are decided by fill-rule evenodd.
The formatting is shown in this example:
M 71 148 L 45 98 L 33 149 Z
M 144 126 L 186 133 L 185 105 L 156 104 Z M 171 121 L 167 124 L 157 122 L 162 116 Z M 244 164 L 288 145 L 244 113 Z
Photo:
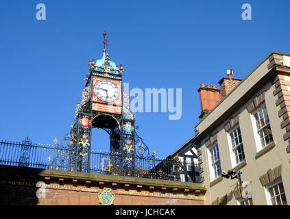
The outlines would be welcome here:
M 195 168 L 187 169 L 187 166 L 194 164 L 183 165 L 178 157 L 157 159 L 155 151 L 149 153 L 148 146 L 136 133 L 138 127 L 135 126 L 135 116 L 130 110 L 130 96 L 123 92 L 121 86 L 123 67 L 121 64 L 116 66 L 110 61 L 105 49 L 106 31 L 103 32 L 103 37 L 103 57 L 97 62 L 94 60 L 88 62 L 90 68 L 85 78 L 86 84 L 82 90 L 81 101 L 77 103 L 70 132 L 64 136 L 60 144 L 55 140 L 52 146 L 32 144 L 28 137 L 22 143 L 2 141 L 0 164 L 177 181 L 180 181 L 182 175 L 186 175 L 190 176 L 186 179 L 195 181 L 195 172 L 190 173 Z M 117 88 L 114 84 L 121 95 L 120 103 L 114 101 L 106 103 L 103 101 L 103 103 L 96 97 L 95 100 L 93 99 L 94 79 L 96 81 L 99 78 L 102 81 L 111 79 L 119 85 Z M 108 90 L 106 95 L 108 96 Z M 98 107 L 96 110 L 93 107 L 96 103 L 112 108 L 118 105 L 121 110 L 104 112 Z M 93 128 L 104 129 L 108 133 L 110 152 L 101 153 L 91 150 Z

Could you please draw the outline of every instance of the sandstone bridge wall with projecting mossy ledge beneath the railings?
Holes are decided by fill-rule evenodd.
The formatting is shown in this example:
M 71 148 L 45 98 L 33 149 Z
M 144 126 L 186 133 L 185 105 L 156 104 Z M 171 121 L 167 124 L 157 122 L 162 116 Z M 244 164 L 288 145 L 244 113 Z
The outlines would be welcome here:
M 0 166 L 0 205 L 100 205 L 110 188 L 114 205 L 204 205 L 199 183 Z M 42 182 L 42 183 L 40 183 Z

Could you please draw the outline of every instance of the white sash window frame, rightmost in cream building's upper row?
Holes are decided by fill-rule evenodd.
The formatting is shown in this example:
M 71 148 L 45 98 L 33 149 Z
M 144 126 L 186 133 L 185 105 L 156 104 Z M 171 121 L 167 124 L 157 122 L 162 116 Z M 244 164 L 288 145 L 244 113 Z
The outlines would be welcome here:
M 270 125 L 270 128 L 271 128 L 270 119 L 269 119 L 269 123 L 267 123 L 267 124 L 265 123 L 265 125 L 263 127 L 261 127 L 260 129 L 258 129 L 257 126 L 256 126 L 256 118 L 254 117 L 254 114 L 258 113 L 258 111 L 262 110 L 263 108 L 266 109 L 267 114 L 268 114 L 268 110 L 267 110 L 267 106 L 266 106 L 265 102 L 263 104 L 261 104 L 256 110 L 254 110 L 254 112 L 251 113 L 252 126 L 253 126 L 253 129 L 254 129 L 254 136 L 255 136 L 255 142 L 256 142 L 256 149 L 257 149 L 257 151 L 261 151 L 266 146 L 268 146 L 269 144 L 271 144 L 272 142 L 274 142 L 273 133 L 271 133 L 272 141 L 269 142 L 269 144 L 265 144 L 265 146 L 262 146 L 261 138 L 260 138 L 260 136 L 258 136 L 258 131 L 262 130 L 263 127 L 266 127 L 267 125 Z M 269 118 L 269 114 L 268 114 L 268 118 Z M 265 136 L 263 138 L 265 138 Z

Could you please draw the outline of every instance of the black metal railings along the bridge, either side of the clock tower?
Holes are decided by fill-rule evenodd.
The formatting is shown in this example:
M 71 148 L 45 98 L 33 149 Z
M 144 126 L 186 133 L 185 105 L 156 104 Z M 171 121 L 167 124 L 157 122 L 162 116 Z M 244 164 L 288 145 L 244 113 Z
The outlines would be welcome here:
M 58 144 L 32 144 L 0 142 L 0 165 L 25 166 L 54 170 L 74 171 L 70 157 L 75 153 Z M 198 166 L 193 162 L 173 159 L 123 157 L 118 153 L 91 151 L 89 172 L 102 175 L 121 175 L 171 181 L 198 182 Z

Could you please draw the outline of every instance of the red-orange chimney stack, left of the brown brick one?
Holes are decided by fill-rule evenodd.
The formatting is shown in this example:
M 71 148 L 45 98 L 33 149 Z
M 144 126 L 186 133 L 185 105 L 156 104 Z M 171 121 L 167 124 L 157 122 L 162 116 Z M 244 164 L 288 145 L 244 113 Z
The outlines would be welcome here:
M 221 99 L 217 86 L 206 86 L 204 83 L 201 83 L 200 89 L 197 91 L 200 93 L 200 106 L 202 107 L 202 113 L 199 118 L 202 119 L 206 114 L 213 110 L 215 105 L 217 105 Z

